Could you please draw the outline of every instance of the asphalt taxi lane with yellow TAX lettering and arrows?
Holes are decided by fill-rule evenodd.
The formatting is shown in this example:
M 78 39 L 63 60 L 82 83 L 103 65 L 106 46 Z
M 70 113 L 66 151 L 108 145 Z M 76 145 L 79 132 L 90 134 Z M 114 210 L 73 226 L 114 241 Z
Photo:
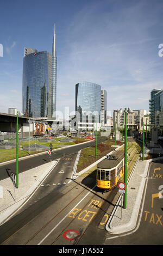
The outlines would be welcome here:
M 163 245 L 163 160 L 151 163 L 137 226 L 129 233 L 106 235 L 105 245 Z M 160 193 L 159 193 L 160 192 Z M 162 198 L 161 198 L 162 197 Z

